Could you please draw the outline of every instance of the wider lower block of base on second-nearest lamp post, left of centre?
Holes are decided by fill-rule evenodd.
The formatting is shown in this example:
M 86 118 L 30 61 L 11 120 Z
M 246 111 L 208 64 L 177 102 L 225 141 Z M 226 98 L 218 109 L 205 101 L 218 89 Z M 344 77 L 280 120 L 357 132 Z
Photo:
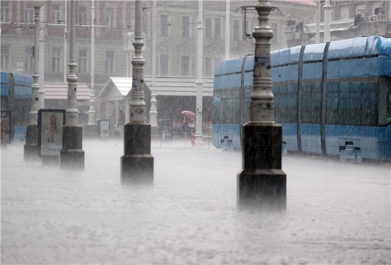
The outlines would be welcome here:
M 121 156 L 122 184 L 153 184 L 153 156 L 150 154 Z

